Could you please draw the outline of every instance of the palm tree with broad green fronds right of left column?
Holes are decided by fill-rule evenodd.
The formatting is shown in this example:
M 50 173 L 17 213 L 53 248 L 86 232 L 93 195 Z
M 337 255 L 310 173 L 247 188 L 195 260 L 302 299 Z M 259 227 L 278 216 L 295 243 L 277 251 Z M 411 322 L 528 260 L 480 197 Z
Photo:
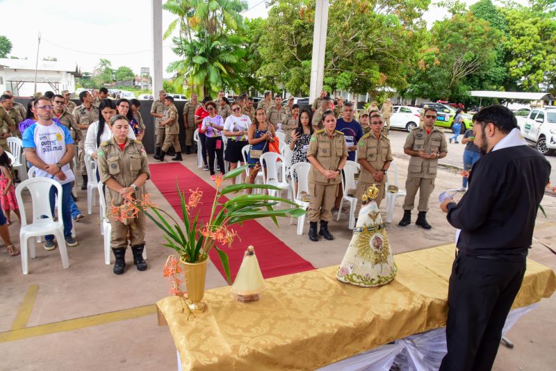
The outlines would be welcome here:
M 183 57 L 167 67 L 174 72 L 174 86 L 187 81 L 202 94 L 240 85 L 244 49 L 238 31 L 245 29 L 242 0 L 168 0 L 163 8 L 178 18 L 170 24 L 165 38 L 172 38 L 173 51 Z

